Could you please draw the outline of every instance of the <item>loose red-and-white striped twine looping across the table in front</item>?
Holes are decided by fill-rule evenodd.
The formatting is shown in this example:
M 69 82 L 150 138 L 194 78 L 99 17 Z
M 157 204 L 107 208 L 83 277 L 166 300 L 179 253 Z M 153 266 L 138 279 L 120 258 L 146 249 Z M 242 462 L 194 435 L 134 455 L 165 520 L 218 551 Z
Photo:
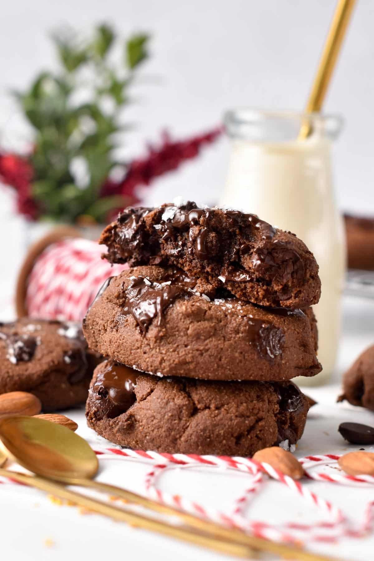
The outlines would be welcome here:
M 340 508 L 335 507 L 330 501 L 321 498 L 306 485 L 295 481 L 292 477 L 275 470 L 267 463 L 259 463 L 251 458 L 228 457 L 228 456 L 198 456 L 197 454 L 161 454 L 158 452 L 118 448 L 104 448 L 96 450 L 100 460 L 117 458 L 131 458 L 154 463 L 151 470 L 145 476 L 146 494 L 153 500 L 181 509 L 184 512 L 195 514 L 208 520 L 219 522 L 227 526 L 241 528 L 250 534 L 265 539 L 281 542 L 299 543 L 300 541 L 337 541 L 341 537 L 363 537 L 373 531 L 374 502 L 366 505 L 363 521 L 357 526 L 345 516 Z M 300 459 L 305 475 L 308 479 L 331 482 L 343 485 L 374 484 L 374 477 L 349 476 L 344 473 L 316 472 L 313 467 L 336 464 L 340 456 L 336 454 L 325 454 L 321 456 L 307 456 Z M 206 507 L 195 500 L 179 494 L 170 494 L 161 491 L 157 482 L 161 474 L 170 468 L 188 467 L 219 467 L 228 470 L 247 473 L 251 476 L 250 484 L 241 496 L 234 500 L 229 512 L 221 512 L 218 509 Z M 332 470 L 331 470 L 332 471 Z M 313 523 L 302 524 L 299 521 L 289 521 L 279 524 L 271 524 L 264 521 L 248 519 L 244 516 L 248 504 L 255 496 L 260 487 L 264 485 L 264 476 L 268 475 L 287 486 L 293 493 L 302 496 L 312 507 L 317 508 L 322 514 L 322 519 Z

